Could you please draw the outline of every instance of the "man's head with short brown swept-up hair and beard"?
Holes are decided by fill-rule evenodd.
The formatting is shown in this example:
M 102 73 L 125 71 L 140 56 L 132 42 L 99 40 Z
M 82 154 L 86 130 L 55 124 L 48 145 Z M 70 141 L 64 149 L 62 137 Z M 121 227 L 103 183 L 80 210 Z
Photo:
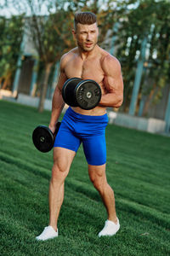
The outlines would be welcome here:
M 82 51 L 91 51 L 98 42 L 99 28 L 96 15 L 90 12 L 77 13 L 72 31 Z

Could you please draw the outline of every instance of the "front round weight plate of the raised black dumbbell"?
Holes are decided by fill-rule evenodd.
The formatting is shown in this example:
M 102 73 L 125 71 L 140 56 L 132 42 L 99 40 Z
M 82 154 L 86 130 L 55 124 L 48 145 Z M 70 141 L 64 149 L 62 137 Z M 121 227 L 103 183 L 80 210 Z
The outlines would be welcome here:
M 94 80 L 82 80 L 74 90 L 77 104 L 82 109 L 92 109 L 99 104 L 101 89 Z

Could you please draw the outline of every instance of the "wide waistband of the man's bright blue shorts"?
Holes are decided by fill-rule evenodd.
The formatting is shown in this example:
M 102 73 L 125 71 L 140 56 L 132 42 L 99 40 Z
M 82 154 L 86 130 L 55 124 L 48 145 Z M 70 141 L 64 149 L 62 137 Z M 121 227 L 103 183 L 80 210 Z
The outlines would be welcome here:
M 108 116 L 107 113 L 102 114 L 102 115 L 86 115 L 82 113 L 77 113 L 75 112 L 71 107 L 67 108 L 66 113 L 70 114 L 72 117 L 75 119 L 80 119 L 84 121 L 108 121 Z

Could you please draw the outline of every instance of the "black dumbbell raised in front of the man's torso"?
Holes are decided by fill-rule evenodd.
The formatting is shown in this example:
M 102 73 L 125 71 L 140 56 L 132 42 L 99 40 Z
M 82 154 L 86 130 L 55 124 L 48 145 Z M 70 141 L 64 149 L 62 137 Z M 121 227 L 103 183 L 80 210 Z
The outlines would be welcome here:
M 99 104 L 101 89 L 94 80 L 73 78 L 65 81 L 62 96 L 69 106 L 88 110 Z

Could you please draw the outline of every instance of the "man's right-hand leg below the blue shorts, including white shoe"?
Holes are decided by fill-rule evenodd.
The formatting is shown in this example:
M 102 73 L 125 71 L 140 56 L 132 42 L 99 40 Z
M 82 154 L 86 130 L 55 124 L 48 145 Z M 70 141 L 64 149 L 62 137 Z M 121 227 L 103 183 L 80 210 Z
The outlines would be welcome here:
M 116 217 L 114 192 L 111 189 L 111 186 L 107 183 L 105 165 L 88 165 L 88 173 L 92 183 L 94 183 L 95 189 L 99 191 L 99 195 L 105 204 L 108 214 L 108 219 L 105 221 L 105 227 L 99 232 L 99 236 L 113 236 L 119 230 L 120 224 Z

